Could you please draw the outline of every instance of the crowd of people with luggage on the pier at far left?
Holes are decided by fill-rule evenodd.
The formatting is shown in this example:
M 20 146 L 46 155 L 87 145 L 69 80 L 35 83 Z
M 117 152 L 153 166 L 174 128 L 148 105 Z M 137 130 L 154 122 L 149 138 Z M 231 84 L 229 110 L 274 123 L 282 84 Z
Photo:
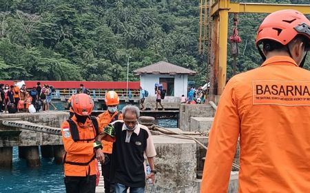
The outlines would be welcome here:
M 48 111 L 50 105 L 57 110 L 52 104 L 52 92 L 54 88 L 51 85 L 41 86 L 40 82 L 32 89 L 28 89 L 25 84 L 20 85 L 17 81 L 14 85 L 0 83 L 0 112 L 29 112 L 30 108 L 35 112 Z

